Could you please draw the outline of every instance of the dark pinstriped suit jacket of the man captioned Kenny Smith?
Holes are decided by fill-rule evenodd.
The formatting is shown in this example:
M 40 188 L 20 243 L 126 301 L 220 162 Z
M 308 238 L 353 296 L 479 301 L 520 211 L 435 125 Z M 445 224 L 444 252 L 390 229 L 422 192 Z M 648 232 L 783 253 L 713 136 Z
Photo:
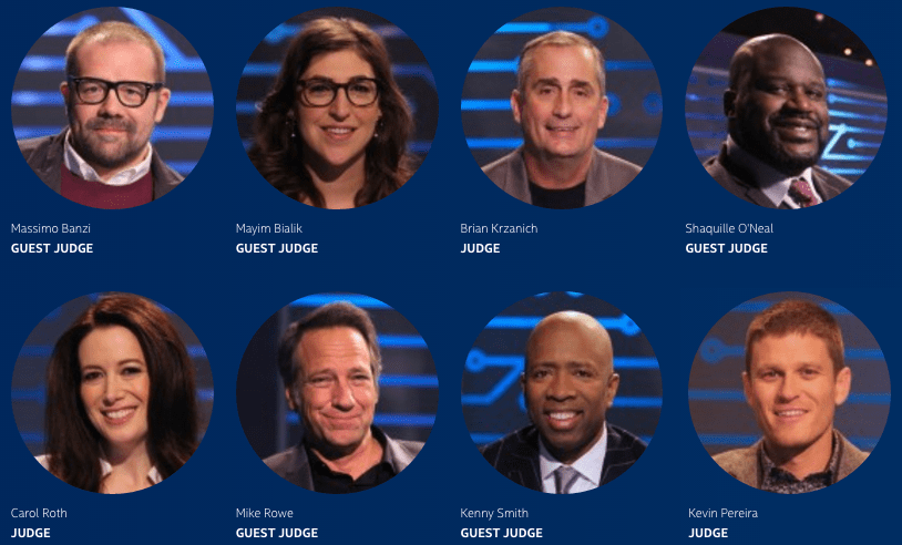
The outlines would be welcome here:
M 645 452 L 646 444 L 628 431 L 605 423 L 607 451 L 598 480 L 602 484 L 621 476 Z M 539 469 L 539 431 L 527 425 L 480 449 L 485 460 L 499 473 L 521 486 L 542 492 L 542 474 Z

